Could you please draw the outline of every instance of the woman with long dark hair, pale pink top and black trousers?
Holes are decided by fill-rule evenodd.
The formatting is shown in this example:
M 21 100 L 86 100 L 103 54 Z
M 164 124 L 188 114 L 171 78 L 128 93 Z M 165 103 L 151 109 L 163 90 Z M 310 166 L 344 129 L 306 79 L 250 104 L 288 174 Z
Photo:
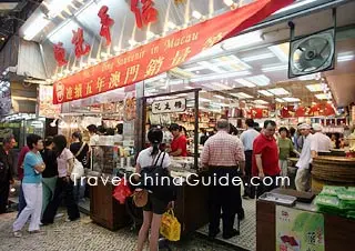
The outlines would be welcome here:
M 62 194 L 64 195 L 68 212 L 67 221 L 80 219 L 80 212 L 73 194 L 74 182 L 70 179 L 74 168 L 74 155 L 67 148 L 67 139 L 64 135 L 55 135 L 53 138 L 53 144 L 57 152 L 58 180 L 53 200 L 48 204 L 43 213 L 43 224 L 53 223 L 57 210 L 61 203 Z

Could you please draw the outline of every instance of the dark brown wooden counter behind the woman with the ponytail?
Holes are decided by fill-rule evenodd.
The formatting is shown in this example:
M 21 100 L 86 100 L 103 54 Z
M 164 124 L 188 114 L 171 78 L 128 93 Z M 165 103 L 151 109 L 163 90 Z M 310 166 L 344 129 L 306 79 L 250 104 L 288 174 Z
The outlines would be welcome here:
M 132 172 L 132 168 L 128 169 Z M 173 177 L 186 177 L 192 171 L 172 168 Z M 101 178 L 98 185 L 90 190 L 90 217 L 93 222 L 112 231 L 130 225 L 132 218 L 125 204 L 120 204 L 113 197 L 114 185 L 111 182 L 103 184 Z M 178 187 L 178 198 L 174 213 L 181 223 L 182 238 L 194 232 L 209 222 L 207 213 L 209 188 L 202 184 L 189 185 L 183 182 Z

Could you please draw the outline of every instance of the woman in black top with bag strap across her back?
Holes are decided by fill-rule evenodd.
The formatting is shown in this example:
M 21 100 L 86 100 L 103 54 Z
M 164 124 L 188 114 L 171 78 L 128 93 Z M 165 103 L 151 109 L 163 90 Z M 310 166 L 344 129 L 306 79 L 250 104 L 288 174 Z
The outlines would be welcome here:
M 79 131 L 74 132 L 71 135 L 72 143 L 70 144 L 70 151 L 80 161 L 83 168 L 89 168 L 88 161 L 88 152 L 89 145 L 82 141 L 82 135 Z M 77 183 L 74 184 L 74 199 L 77 203 L 79 200 L 83 200 L 85 194 L 85 180 L 81 182 L 81 179 L 77 179 Z

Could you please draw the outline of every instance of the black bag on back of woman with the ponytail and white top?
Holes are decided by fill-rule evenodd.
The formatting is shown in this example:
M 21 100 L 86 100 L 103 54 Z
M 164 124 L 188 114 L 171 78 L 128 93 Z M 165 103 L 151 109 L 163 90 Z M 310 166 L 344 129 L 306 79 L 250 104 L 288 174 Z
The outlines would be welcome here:
M 163 158 L 158 164 L 161 154 Z M 169 202 L 176 198 L 176 185 L 169 170 L 163 168 L 165 154 L 166 152 L 160 152 L 153 165 L 142 169 L 139 187 L 151 191 L 156 199 Z

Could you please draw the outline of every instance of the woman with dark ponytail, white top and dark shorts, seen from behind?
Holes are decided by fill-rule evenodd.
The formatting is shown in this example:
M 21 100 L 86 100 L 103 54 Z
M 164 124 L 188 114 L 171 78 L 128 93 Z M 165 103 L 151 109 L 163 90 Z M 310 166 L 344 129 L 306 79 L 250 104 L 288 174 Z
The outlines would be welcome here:
M 152 167 L 154 163 L 161 164 L 162 168 L 170 165 L 169 154 L 159 150 L 163 140 L 163 132 L 161 129 L 153 128 L 148 132 L 148 140 L 152 147 L 140 152 L 136 159 L 135 172 L 141 173 L 144 168 Z M 160 154 L 161 153 L 161 154 Z M 158 250 L 159 229 L 162 221 L 162 214 L 166 211 L 169 201 L 162 201 L 149 193 L 148 203 L 143 207 L 143 224 L 139 233 L 138 251 L 142 251 L 144 242 L 146 241 L 149 229 L 151 229 L 150 250 Z

